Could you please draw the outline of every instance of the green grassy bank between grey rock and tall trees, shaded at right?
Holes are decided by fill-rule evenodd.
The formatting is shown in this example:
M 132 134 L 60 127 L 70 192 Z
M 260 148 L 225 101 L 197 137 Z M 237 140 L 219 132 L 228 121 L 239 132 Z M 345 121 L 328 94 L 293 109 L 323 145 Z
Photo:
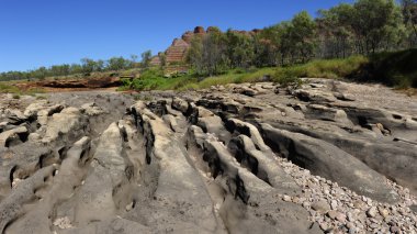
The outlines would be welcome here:
M 383 53 L 371 57 L 351 56 L 340 59 L 316 59 L 302 65 L 233 69 L 224 75 L 199 78 L 181 74 L 171 78 L 161 69 L 146 70 L 140 78 L 126 79 L 120 90 L 198 90 L 227 83 L 274 81 L 283 86 L 300 85 L 298 78 L 348 78 L 377 81 L 397 88 L 417 87 L 417 49 Z

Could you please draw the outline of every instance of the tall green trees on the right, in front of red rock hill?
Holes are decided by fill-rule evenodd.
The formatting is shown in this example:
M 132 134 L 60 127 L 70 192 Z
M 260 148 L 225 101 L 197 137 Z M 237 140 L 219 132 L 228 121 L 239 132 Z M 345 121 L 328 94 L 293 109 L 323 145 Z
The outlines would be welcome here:
M 286 66 L 313 58 L 345 58 L 415 47 L 417 0 L 357 0 L 306 11 L 259 32 L 211 27 L 191 42 L 188 62 L 200 75 L 233 68 Z

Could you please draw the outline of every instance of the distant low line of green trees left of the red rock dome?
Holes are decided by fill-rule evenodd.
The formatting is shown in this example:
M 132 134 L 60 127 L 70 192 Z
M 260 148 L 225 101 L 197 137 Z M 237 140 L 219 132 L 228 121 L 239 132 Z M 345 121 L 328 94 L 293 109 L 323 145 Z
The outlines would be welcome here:
M 43 79 L 45 77 L 60 77 L 77 74 L 88 75 L 100 71 L 117 71 L 133 68 L 149 66 L 151 52 L 146 51 L 142 54 L 142 60 L 138 62 L 137 55 L 131 55 L 129 58 L 112 57 L 108 60 L 82 58 L 80 64 L 63 64 L 50 67 L 40 67 L 29 71 L 7 71 L 0 73 L 0 80 L 20 80 L 20 79 Z

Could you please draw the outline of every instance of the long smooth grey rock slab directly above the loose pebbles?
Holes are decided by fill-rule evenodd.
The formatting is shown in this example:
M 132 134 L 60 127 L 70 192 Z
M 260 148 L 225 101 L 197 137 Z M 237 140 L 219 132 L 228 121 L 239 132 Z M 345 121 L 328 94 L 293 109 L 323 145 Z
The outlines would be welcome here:
M 338 182 L 370 198 L 394 202 L 397 194 L 385 178 L 340 148 L 304 134 L 261 124 L 263 137 L 273 148 L 313 174 Z

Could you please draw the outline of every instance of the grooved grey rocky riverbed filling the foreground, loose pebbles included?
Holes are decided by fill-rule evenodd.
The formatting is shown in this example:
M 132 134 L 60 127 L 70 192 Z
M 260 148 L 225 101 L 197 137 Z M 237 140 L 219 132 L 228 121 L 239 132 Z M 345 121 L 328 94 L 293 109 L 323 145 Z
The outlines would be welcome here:
M 1 94 L 0 231 L 417 233 L 417 99 L 304 81 Z

